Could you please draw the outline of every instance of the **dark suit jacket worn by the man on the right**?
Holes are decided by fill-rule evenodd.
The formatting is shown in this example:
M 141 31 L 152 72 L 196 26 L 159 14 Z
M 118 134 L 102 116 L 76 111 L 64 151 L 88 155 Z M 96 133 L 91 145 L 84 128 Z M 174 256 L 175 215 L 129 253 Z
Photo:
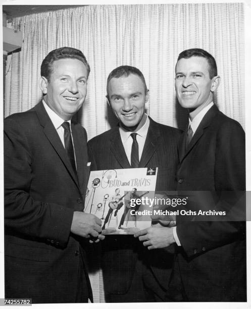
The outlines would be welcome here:
M 236 191 L 245 190 L 243 129 L 213 106 L 187 151 L 185 134 L 179 143 L 178 190 L 212 191 L 215 196 L 235 191 L 216 199 L 216 208 L 229 207 L 230 211 L 233 203 L 229 197 L 238 197 L 241 192 Z M 204 202 L 206 198 L 201 208 Z M 241 205 L 235 203 L 234 207 Z M 182 245 L 179 267 L 189 301 L 245 301 L 243 222 L 180 222 L 177 218 L 177 235 Z

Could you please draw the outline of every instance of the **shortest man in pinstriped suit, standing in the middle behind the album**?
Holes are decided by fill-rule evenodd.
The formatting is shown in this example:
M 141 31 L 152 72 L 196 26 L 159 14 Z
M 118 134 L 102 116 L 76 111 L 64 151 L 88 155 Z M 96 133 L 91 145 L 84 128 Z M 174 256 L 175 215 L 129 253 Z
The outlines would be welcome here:
M 148 89 L 142 73 L 130 66 L 114 69 L 107 81 L 107 98 L 119 126 L 88 142 L 91 169 L 158 167 L 156 190 L 174 190 L 179 130 L 159 124 L 144 113 Z M 102 244 L 107 302 L 163 300 L 173 254 L 162 249 L 147 254 L 151 268 L 144 269 L 142 287 L 143 265 L 139 261 L 139 255 L 145 255 L 142 249 L 132 235 L 110 235 Z

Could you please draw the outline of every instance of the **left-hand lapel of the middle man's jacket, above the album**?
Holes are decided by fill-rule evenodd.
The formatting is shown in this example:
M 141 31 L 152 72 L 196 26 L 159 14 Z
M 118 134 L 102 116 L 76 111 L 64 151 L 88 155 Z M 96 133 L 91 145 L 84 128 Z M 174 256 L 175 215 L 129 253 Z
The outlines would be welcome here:
M 119 127 L 116 127 L 111 136 L 111 151 L 123 169 L 130 169 L 130 163 L 127 159 L 124 146 L 119 133 Z

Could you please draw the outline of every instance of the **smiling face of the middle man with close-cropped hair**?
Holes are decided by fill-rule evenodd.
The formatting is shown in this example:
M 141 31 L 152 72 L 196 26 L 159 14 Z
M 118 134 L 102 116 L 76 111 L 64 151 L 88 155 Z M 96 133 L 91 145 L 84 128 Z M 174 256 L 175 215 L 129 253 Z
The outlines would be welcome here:
M 112 78 L 108 85 L 111 107 L 120 124 L 129 131 L 140 129 L 144 124 L 144 106 L 148 92 L 139 76 L 130 74 Z

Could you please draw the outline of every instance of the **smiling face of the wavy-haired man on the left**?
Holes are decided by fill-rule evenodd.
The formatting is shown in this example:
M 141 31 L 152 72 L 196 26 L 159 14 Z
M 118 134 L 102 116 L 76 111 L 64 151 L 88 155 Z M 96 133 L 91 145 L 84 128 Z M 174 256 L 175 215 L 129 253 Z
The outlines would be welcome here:
M 81 108 L 87 91 L 87 69 L 77 59 L 54 61 L 49 81 L 42 77 L 41 89 L 47 105 L 69 120 Z

